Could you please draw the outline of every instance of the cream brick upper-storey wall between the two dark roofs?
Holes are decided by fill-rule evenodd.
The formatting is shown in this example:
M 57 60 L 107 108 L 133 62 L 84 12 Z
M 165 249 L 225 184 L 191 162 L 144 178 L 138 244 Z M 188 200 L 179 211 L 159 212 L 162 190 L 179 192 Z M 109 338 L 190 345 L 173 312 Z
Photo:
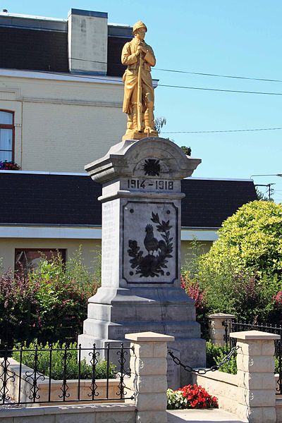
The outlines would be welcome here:
M 123 85 L 0 78 L 0 109 L 15 111 L 15 161 L 24 171 L 83 172 L 121 141 L 122 99 Z

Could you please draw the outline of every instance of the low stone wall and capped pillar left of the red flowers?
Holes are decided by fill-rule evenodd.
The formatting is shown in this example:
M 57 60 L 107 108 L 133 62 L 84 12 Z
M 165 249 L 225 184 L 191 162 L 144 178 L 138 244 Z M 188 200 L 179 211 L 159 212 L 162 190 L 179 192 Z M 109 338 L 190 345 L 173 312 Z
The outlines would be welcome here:
M 174 338 L 153 332 L 131 333 L 125 338 L 130 341 L 131 347 L 133 347 L 130 350 L 131 374 L 124 379 L 125 395 L 128 398 L 130 393 L 134 394 L 133 400 L 103 405 L 75 403 L 73 405 L 62 404 L 48 407 L 6 408 L 0 410 L 1 422 L 167 423 L 166 355 L 167 343 L 173 343 Z M 18 372 L 18 363 L 13 359 L 10 359 L 10 362 L 13 371 Z M 26 372 L 28 367 L 23 366 L 22 370 Z M 46 380 L 46 385 L 48 385 L 48 381 L 49 379 Z M 98 383 L 99 381 L 97 381 Z M 102 381 L 101 383 L 103 384 Z M 58 384 L 61 384 L 61 382 L 58 381 Z M 114 381 L 114 384 L 116 384 L 116 381 Z M 114 384 L 113 388 L 115 388 Z M 11 387 L 9 386 L 9 388 Z M 102 389 L 103 386 L 99 388 Z M 28 397 L 29 389 L 28 386 L 23 384 L 23 395 Z M 73 391 L 73 395 L 75 400 L 75 391 Z

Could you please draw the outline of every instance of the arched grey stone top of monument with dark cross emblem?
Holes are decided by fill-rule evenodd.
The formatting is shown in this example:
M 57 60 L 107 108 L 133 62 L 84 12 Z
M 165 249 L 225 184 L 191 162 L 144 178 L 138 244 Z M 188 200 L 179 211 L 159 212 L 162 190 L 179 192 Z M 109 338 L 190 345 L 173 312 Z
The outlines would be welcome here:
M 102 159 L 85 166 L 93 180 L 100 183 L 121 177 L 150 176 L 183 179 L 191 176 L 201 159 L 186 156 L 166 138 L 125 140 L 109 149 Z

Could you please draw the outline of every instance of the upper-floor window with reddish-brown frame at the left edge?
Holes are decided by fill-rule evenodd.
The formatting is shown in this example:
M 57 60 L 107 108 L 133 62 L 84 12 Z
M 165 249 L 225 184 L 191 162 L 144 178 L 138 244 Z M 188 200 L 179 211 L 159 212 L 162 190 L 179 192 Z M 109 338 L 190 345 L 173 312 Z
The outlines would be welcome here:
M 0 110 L 0 161 L 14 159 L 13 112 Z

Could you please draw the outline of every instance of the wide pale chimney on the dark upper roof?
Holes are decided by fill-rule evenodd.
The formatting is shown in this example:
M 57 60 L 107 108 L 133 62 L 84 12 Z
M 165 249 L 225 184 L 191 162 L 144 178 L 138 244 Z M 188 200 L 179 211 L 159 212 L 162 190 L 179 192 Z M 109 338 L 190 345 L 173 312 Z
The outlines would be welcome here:
M 68 68 L 71 73 L 106 75 L 108 13 L 71 9 L 68 13 Z

